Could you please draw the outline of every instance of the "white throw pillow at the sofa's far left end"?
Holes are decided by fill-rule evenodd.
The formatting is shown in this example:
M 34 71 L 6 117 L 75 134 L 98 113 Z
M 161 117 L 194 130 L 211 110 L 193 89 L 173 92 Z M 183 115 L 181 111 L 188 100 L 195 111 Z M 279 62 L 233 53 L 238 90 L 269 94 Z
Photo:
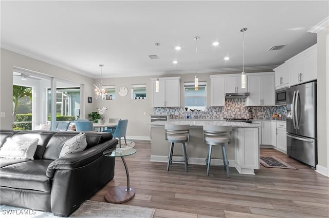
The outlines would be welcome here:
M 21 141 L 15 138 L 7 138 L 5 144 L 0 148 L 0 157 L 11 159 L 30 159 L 38 147 L 39 138 L 34 140 Z

